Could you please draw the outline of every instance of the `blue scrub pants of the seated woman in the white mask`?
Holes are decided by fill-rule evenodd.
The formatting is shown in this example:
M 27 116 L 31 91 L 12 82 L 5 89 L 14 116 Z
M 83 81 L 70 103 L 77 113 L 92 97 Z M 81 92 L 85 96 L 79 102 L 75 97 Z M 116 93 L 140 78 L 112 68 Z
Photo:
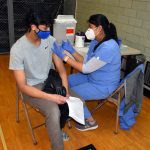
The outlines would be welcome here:
M 69 87 L 85 101 L 104 99 L 108 97 L 108 91 L 100 85 L 90 83 L 88 76 L 82 73 L 72 74 L 69 76 Z M 91 117 L 87 106 L 84 107 L 85 119 Z

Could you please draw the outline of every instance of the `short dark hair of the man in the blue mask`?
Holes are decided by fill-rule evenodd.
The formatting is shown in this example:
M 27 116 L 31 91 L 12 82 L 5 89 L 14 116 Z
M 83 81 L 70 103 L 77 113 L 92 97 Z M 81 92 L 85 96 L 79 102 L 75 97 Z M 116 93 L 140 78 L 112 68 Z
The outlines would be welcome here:
M 49 15 L 49 13 L 44 10 L 44 8 L 35 8 L 28 9 L 25 17 L 25 26 L 26 30 L 31 30 L 31 25 L 51 25 L 53 24 L 53 19 Z

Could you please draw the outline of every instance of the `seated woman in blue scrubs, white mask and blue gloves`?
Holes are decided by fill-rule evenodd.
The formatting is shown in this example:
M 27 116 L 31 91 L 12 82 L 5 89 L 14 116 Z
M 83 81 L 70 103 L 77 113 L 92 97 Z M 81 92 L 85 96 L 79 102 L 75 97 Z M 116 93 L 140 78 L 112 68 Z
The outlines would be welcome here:
M 54 53 L 62 60 L 77 69 L 79 73 L 69 76 L 70 88 L 85 101 L 107 98 L 120 81 L 121 54 L 118 45 L 116 27 L 106 16 L 95 14 L 90 16 L 89 28 L 85 35 L 91 40 L 85 58 L 72 47 L 69 41 L 61 46 L 54 43 Z M 74 59 L 64 54 L 67 50 Z M 84 108 L 86 124 L 77 124 L 80 131 L 93 130 L 98 127 L 90 111 Z

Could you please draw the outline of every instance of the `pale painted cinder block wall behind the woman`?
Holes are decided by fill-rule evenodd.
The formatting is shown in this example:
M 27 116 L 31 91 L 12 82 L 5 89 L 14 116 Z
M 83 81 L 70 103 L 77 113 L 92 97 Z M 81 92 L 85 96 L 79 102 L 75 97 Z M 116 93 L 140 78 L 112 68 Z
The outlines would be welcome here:
M 85 31 L 89 16 L 95 13 L 105 14 L 123 43 L 141 50 L 150 60 L 150 0 L 77 0 L 76 31 Z

